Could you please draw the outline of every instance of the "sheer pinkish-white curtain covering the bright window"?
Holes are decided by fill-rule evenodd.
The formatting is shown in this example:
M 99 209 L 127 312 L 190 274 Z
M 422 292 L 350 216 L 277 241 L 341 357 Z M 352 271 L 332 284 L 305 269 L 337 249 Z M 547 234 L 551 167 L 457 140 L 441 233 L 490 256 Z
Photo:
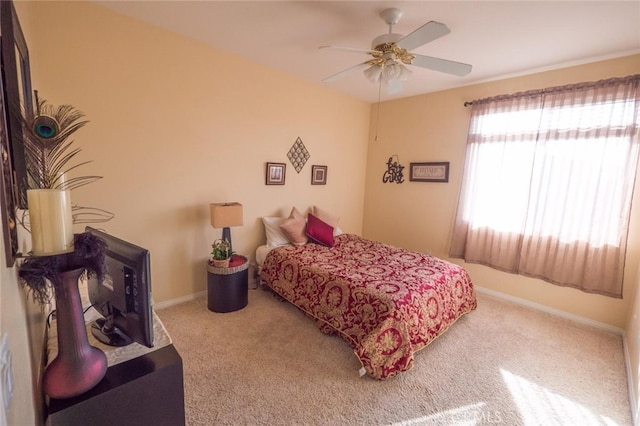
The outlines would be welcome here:
M 450 256 L 621 298 L 639 82 L 473 101 Z

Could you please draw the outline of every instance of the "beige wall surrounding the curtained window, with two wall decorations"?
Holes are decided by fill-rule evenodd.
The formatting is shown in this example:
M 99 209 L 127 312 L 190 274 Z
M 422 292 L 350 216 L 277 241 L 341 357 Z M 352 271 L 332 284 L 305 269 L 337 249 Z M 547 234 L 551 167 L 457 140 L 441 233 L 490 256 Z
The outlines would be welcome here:
M 377 106 L 372 105 L 364 236 L 447 258 L 469 123 L 470 109 L 463 106 L 465 101 L 638 72 L 640 55 L 383 102 L 377 124 Z M 385 162 L 394 154 L 406 166 L 406 182 L 383 184 Z M 421 161 L 449 161 L 449 183 L 409 182 L 409 163 Z M 478 286 L 624 328 L 635 294 L 639 256 L 640 207 L 636 202 L 631 218 L 622 300 L 558 287 L 485 266 L 466 263 L 464 266 Z

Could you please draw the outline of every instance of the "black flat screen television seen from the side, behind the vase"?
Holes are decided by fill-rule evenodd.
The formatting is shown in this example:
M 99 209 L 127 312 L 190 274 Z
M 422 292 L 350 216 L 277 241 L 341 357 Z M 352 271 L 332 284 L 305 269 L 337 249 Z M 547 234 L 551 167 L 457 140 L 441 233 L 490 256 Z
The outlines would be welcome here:
M 89 301 L 102 315 L 91 324 L 91 333 L 110 346 L 138 342 L 153 347 L 149 250 L 90 226 L 85 231 L 107 243 L 105 278 L 87 284 Z

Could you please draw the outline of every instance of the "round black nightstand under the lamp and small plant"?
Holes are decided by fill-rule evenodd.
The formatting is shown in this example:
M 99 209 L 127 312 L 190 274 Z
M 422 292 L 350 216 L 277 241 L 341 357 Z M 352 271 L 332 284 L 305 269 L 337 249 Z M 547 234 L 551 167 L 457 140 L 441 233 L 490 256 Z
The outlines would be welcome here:
M 207 265 L 207 307 L 213 312 L 233 312 L 249 301 L 249 262 L 233 255 L 228 268 Z

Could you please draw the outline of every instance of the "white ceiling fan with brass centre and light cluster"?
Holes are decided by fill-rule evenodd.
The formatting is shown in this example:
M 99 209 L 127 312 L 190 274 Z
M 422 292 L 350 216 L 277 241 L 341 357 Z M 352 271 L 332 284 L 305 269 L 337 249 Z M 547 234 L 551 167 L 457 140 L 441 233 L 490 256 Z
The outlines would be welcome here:
M 367 53 L 372 56 L 372 59 L 333 74 L 323 79 L 323 82 L 330 83 L 352 72 L 363 70 L 364 75 L 372 83 L 385 84 L 389 93 L 398 93 L 402 90 L 401 82 L 411 74 L 411 71 L 405 65 L 415 65 L 457 76 L 464 76 L 471 72 L 471 65 L 469 64 L 410 53 L 410 50 L 449 34 L 451 31 L 445 24 L 429 21 L 411 34 L 403 36 L 394 34 L 392 31 L 393 26 L 402 17 L 400 9 L 385 9 L 380 12 L 380 17 L 389 25 L 389 33 L 373 39 L 371 49 L 320 46 L 320 49 L 348 50 Z

